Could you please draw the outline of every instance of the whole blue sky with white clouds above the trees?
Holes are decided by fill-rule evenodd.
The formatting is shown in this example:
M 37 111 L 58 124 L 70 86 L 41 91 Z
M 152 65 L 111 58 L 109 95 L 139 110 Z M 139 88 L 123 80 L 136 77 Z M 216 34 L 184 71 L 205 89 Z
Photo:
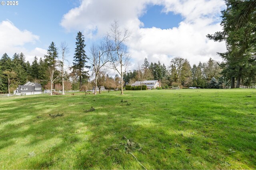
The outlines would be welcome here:
M 4 0 L 4 2 L 7 2 Z M 220 31 L 223 0 L 19 0 L 17 6 L 0 6 L 0 56 L 24 53 L 32 61 L 46 54 L 53 41 L 66 41 L 72 63 L 76 35 L 85 37 L 86 51 L 110 29 L 114 20 L 127 28 L 126 45 L 136 69 L 149 62 L 170 65 L 173 57 L 190 64 L 221 58 L 224 43 L 210 41 L 208 33 Z

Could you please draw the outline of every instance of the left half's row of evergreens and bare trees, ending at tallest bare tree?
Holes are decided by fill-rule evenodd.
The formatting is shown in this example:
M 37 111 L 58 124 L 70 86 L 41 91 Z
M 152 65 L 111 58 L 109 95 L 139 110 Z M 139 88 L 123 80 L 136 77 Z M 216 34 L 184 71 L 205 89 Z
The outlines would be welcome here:
M 51 91 L 52 88 L 56 88 L 55 85 L 58 83 L 62 84 L 64 91 L 64 82 L 66 80 L 72 82 L 73 89 L 81 90 L 82 85 L 86 84 L 90 78 L 88 74 L 89 68 L 92 68 L 94 87 L 96 87 L 100 85 L 99 79 L 102 78 L 101 74 L 104 70 L 112 68 L 118 73 L 118 76 L 115 76 L 115 79 L 108 78 L 111 80 L 109 84 L 112 87 L 112 84 L 119 82 L 121 94 L 123 94 L 123 75 L 130 64 L 130 56 L 124 41 L 129 36 L 128 31 L 126 29 L 121 30 L 118 22 L 114 21 L 105 39 L 100 45 L 93 45 L 90 48 L 89 56 L 87 56 L 84 50 L 86 46 L 84 44 L 84 36 L 79 31 L 76 37 L 73 65 L 66 67 L 64 66 L 64 61 L 69 52 L 66 43 L 61 43 L 58 49 L 55 43 L 52 42 L 48 47 L 47 54 L 44 55 L 44 59 L 40 58 L 38 62 L 37 57 L 35 57 L 32 65 L 29 62 L 25 62 L 25 57 L 22 53 L 14 54 L 12 59 L 5 53 L 0 60 L 0 92 L 10 93 L 19 84 L 25 84 L 28 80 L 40 82 L 43 86 L 48 83 Z M 61 53 L 62 57 L 59 57 L 59 53 Z M 88 61 L 91 63 L 90 66 Z M 96 88 L 94 94 L 96 94 Z

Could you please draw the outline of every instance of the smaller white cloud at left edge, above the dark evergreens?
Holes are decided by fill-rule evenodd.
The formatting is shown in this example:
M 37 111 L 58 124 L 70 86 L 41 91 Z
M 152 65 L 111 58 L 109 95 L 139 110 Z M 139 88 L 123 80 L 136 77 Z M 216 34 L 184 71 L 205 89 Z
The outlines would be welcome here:
M 22 52 L 25 55 L 26 60 L 32 62 L 35 56 L 40 58 L 47 52 L 40 48 L 35 48 L 31 51 L 26 49 L 24 45 L 28 43 L 36 43 L 39 41 L 39 36 L 34 35 L 28 30 L 21 31 L 9 20 L 0 23 L 0 37 L 0 54 L 7 53 L 12 57 L 14 53 Z

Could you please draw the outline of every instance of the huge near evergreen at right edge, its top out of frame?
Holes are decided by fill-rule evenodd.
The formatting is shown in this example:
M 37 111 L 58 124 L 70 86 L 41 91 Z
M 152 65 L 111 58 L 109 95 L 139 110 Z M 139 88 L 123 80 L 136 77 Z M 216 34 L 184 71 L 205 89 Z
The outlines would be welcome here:
M 231 88 L 239 88 L 243 78 L 255 75 L 256 64 L 256 3 L 255 0 L 225 0 L 222 11 L 222 31 L 207 35 L 214 41 L 226 42 L 226 53 L 218 53 L 225 61 L 222 74 L 231 80 Z M 250 74 L 247 74 L 249 73 Z

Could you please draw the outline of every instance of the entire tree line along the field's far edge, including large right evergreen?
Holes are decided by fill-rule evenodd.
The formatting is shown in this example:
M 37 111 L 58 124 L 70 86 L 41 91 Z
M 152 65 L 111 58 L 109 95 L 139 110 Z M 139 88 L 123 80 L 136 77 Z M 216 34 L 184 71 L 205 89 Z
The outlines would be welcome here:
M 32 64 L 26 62 L 23 53 L 15 53 L 12 58 L 6 53 L 0 59 L 0 93 L 10 93 L 19 84 L 27 81 L 40 82 L 47 88 L 88 89 L 94 86 L 120 88 L 135 81 L 159 80 L 164 88 L 169 86 L 197 88 L 239 88 L 256 83 L 256 3 L 254 0 L 225 0 L 227 8 L 222 13 L 222 31 L 208 34 L 214 41 L 224 41 L 227 51 L 218 53 L 222 63 L 209 59 L 206 63 L 193 64 L 182 57 L 173 58 L 165 64 L 149 63 L 147 59 L 136 70 L 127 71 L 130 55 L 124 42 L 130 38 L 127 29 L 120 29 L 114 21 L 110 30 L 99 44 L 94 44 L 85 53 L 84 36 L 79 31 L 72 66 L 64 66 L 68 46 L 62 43 L 59 49 L 52 42 L 47 54 Z M 92 75 L 88 74 L 89 69 Z M 106 74 L 114 69 L 117 75 Z M 91 82 L 89 81 L 90 79 Z M 66 88 L 64 87 L 66 86 Z M 82 87 L 83 86 L 83 87 Z M 85 87 L 86 86 L 86 87 Z M 88 87 L 87 87 L 88 86 Z

